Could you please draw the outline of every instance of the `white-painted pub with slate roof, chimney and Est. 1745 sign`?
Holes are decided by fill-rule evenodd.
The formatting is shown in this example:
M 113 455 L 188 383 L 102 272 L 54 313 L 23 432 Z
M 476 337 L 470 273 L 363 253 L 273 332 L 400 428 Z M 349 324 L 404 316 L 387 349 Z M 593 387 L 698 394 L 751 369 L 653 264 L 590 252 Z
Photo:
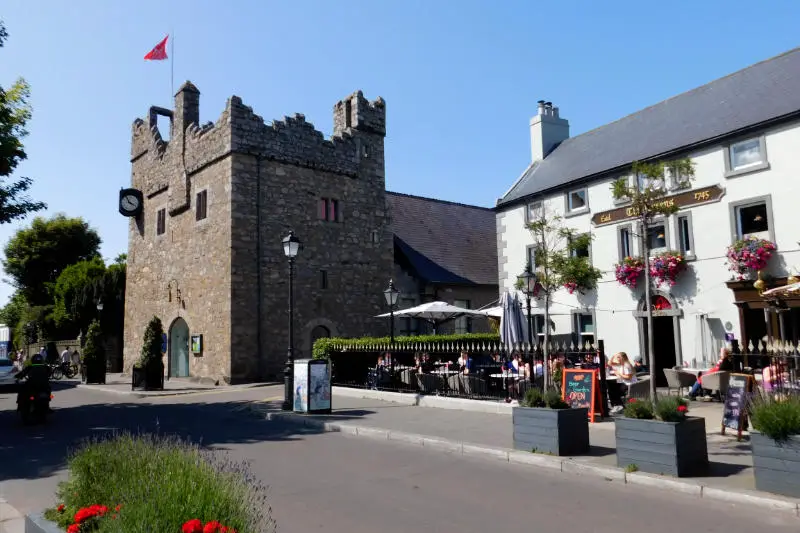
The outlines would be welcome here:
M 714 359 L 726 334 L 739 342 L 767 334 L 797 341 L 800 302 L 765 313 L 775 302 L 765 302 L 752 281 L 728 283 L 725 254 L 734 240 L 753 234 L 777 244 L 768 286 L 785 284 L 800 267 L 800 49 L 574 138 L 559 109 L 540 102 L 530 129 L 532 162 L 497 202 L 501 293 L 529 261 L 534 241 L 525 224 L 542 205 L 593 235 L 590 257 L 604 271 L 596 291 L 554 295 L 557 338 L 600 338 L 607 353 L 644 353 L 643 276 L 632 290 L 614 275 L 621 257 L 640 255 L 641 232 L 614 201 L 611 183 L 629 175 L 633 161 L 689 157 L 695 180 L 688 189 L 665 180 L 681 209 L 648 232 L 656 252 L 679 250 L 690 259 L 674 287 L 654 292 L 671 307 L 654 323 L 657 366 Z M 541 334 L 543 310 L 535 313 Z

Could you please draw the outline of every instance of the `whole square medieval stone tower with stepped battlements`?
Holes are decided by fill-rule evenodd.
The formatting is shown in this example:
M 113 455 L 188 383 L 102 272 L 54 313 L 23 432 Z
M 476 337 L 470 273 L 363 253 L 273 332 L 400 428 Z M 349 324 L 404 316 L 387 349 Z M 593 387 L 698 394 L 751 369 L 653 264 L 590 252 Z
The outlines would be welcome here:
M 173 110 L 133 123 L 124 366 L 155 315 L 168 334 L 170 376 L 242 382 L 276 376 L 286 360 L 289 267 L 295 262 L 295 356 L 321 336 L 385 329 L 383 290 L 393 241 L 385 199 L 383 99 L 359 91 L 334 106 L 334 134 L 296 114 L 265 124 L 232 96 L 200 125 L 186 82 Z M 170 124 L 169 140 L 159 118 Z M 200 337 L 202 336 L 202 337 Z

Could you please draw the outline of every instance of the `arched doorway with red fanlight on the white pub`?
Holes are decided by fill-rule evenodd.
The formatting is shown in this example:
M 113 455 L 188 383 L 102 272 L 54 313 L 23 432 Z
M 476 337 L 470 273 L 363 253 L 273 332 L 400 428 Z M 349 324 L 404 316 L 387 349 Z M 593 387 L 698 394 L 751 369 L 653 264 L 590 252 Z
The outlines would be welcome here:
M 680 365 L 683 361 L 681 353 L 680 317 L 683 314 L 678 307 L 678 302 L 669 293 L 653 291 L 650 297 L 650 310 L 653 315 L 653 355 L 656 369 L 656 386 L 666 387 L 667 377 L 665 368 Z M 639 300 L 639 305 L 634 316 L 639 320 L 639 347 L 642 359 L 647 353 L 647 303 L 644 297 Z M 650 361 L 645 360 L 646 365 Z

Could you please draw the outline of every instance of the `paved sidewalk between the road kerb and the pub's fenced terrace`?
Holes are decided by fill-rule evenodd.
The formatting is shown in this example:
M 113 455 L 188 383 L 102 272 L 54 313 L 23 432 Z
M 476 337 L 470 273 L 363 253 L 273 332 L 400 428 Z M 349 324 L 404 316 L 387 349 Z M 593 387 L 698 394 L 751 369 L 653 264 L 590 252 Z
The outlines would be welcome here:
M 334 394 L 334 411 L 331 415 L 303 416 L 315 423 L 332 423 L 339 431 L 351 434 L 367 434 L 372 432 L 377 438 L 389 438 L 423 444 L 420 437 L 433 437 L 456 447 L 462 453 L 475 446 L 492 448 L 501 457 L 508 458 L 513 449 L 513 429 L 511 416 L 451 409 L 437 409 L 390 403 L 375 399 L 352 398 Z M 266 416 L 284 416 L 278 413 L 280 405 L 275 402 L 262 402 L 254 407 Z M 711 462 L 709 475 L 703 478 L 683 478 L 696 488 L 703 486 L 722 491 L 753 491 L 753 497 L 761 495 L 773 498 L 766 493 L 755 493 L 755 482 L 752 472 L 752 454 L 749 436 L 745 433 L 741 442 L 736 435 L 728 431 L 720 434 L 722 406 L 719 403 L 692 402 L 691 414 L 706 419 L 708 433 L 708 454 Z M 299 416 L 299 415 L 298 415 Z M 309 422 L 311 422 L 309 420 Z M 361 428 L 356 431 L 356 428 Z M 331 428 L 336 431 L 337 429 Z M 590 441 L 592 453 L 589 456 L 561 458 L 570 465 L 585 465 L 597 470 L 613 472 L 616 468 L 614 423 L 611 420 L 590 424 Z M 451 446 L 452 447 L 452 446 Z M 487 451 L 492 455 L 492 450 Z M 503 455 L 505 454 L 505 455 Z M 557 458 L 527 454 L 542 460 Z M 498 458 L 501 458 L 498 457 Z M 531 462 L 536 462 L 531 457 Z M 517 457 L 519 459 L 519 457 Z M 507 459 L 511 460 L 511 459 Z M 562 470 L 564 467 L 561 466 Z M 619 470 L 622 473 L 621 470 Z M 638 474 L 643 475 L 643 474 Z M 675 478 L 658 476 L 659 484 L 669 484 Z M 677 481 L 677 480 L 676 480 Z M 678 485 L 680 483 L 676 483 Z M 780 499 L 780 497 L 776 497 Z M 785 500 L 785 499 L 784 499 Z

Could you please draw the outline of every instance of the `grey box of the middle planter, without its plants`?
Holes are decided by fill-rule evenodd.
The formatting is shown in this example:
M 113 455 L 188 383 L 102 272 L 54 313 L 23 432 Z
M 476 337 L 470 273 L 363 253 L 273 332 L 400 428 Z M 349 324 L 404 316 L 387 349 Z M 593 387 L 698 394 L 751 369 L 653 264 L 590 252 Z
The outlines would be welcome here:
M 708 472 L 708 444 L 704 418 L 683 422 L 617 418 L 617 466 L 636 465 L 642 472 L 677 477 Z

